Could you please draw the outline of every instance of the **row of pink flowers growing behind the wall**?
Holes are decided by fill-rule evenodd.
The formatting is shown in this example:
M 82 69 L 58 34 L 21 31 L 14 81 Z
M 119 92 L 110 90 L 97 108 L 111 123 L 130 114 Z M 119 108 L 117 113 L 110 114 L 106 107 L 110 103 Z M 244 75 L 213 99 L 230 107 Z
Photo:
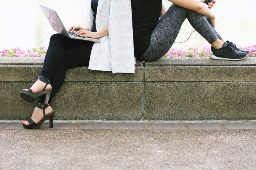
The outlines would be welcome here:
M 250 51 L 247 57 L 256 57 L 256 45 L 251 45 L 247 47 L 239 47 L 240 49 L 245 49 Z M 3 49 L 0 51 L 0 56 L 2 57 L 43 57 L 45 56 L 47 49 L 43 46 L 40 48 L 32 48 L 32 50 L 21 50 L 19 47 L 9 49 Z M 191 47 L 188 50 L 171 48 L 163 58 L 200 58 L 209 57 L 211 52 L 211 47 L 203 47 L 202 49 Z

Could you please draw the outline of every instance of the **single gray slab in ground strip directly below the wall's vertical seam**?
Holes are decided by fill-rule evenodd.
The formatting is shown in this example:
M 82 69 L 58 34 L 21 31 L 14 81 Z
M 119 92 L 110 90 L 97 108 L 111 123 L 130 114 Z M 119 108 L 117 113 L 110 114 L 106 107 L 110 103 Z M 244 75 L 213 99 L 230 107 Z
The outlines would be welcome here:
M 120 122 L 116 123 L 116 130 L 148 130 L 148 123 Z

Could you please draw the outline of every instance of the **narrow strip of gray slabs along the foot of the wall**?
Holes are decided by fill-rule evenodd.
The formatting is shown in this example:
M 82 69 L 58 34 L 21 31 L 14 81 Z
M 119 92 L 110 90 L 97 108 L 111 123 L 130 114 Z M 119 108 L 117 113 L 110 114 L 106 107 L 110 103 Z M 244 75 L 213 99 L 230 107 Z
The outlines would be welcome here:
M 5 125 L 4 125 L 5 124 Z M 79 128 L 76 129 L 77 125 Z M 225 128 L 222 126 L 224 125 Z M 186 128 L 187 126 L 187 128 Z M 113 128 L 115 127 L 115 128 Z M 0 130 L 27 130 L 23 128 L 22 121 L 0 122 Z M 256 121 L 214 121 L 214 122 L 154 122 L 154 121 L 95 121 L 95 122 L 54 122 L 54 127 L 49 128 L 48 121 L 41 126 L 41 130 L 256 130 Z

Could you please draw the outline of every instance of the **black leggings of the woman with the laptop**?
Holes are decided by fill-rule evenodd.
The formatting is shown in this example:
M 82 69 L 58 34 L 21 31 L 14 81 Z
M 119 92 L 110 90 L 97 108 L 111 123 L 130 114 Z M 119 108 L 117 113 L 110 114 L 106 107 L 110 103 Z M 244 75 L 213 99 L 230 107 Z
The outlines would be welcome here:
M 40 72 L 40 75 L 47 78 L 52 85 L 53 92 L 49 104 L 65 80 L 66 69 L 89 65 L 93 45 L 91 41 L 69 39 L 62 34 L 51 36 Z M 39 98 L 39 102 L 44 103 L 44 97 Z

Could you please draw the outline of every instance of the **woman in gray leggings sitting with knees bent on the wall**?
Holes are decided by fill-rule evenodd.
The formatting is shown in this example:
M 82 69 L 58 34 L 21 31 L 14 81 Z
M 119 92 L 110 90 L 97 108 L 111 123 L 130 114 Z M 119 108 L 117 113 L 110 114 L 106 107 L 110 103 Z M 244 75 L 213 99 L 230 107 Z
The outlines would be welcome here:
M 165 12 L 162 0 L 131 0 L 134 52 L 138 60 L 156 61 L 165 55 L 186 18 L 212 45 L 212 59 L 242 60 L 249 54 L 225 41 L 214 29 L 215 16 L 209 8 L 214 6 L 215 0 L 208 5 L 204 3 L 205 0 L 169 1 L 173 4 Z M 164 14 L 161 16 L 161 13 Z

